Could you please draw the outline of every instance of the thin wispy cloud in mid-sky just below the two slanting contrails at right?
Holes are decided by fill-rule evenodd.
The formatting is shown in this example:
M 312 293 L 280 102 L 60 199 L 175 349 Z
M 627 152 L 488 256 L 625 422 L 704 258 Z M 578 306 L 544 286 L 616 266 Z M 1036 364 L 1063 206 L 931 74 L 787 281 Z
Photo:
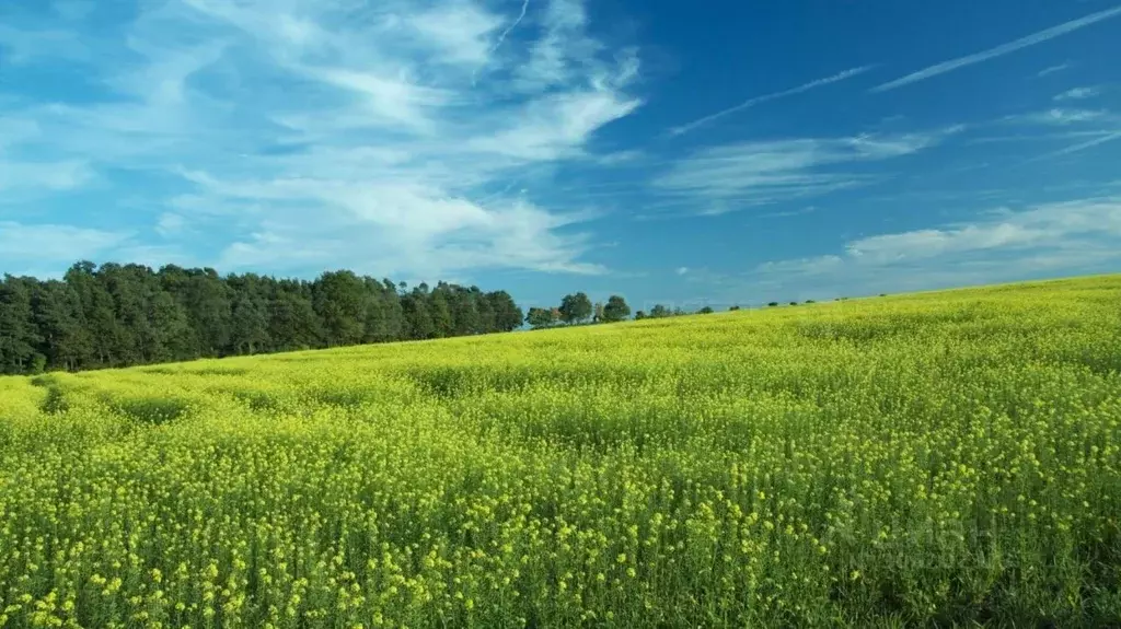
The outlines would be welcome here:
M 929 149 L 961 125 L 925 133 L 750 141 L 695 151 L 654 187 L 688 214 L 735 209 L 825 195 L 880 180 L 882 173 L 843 167 L 883 162 Z

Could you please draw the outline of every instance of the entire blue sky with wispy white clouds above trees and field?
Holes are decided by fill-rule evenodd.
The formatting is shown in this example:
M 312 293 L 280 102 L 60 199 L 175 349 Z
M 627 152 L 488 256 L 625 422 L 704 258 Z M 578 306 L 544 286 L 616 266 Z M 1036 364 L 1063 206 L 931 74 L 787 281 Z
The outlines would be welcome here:
M 636 308 L 1121 271 L 1118 59 L 1097 0 L 8 0 L 0 270 Z

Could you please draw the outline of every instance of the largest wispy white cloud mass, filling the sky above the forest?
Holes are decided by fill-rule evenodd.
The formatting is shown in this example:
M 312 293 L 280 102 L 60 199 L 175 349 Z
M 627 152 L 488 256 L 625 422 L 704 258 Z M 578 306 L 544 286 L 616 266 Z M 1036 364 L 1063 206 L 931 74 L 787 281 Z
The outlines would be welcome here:
M 595 135 L 642 104 L 637 51 L 592 37 L 580 0 L 520 2 L 512 22 L 476 0 L 58 7 L 70 21 L 27 18 L 0 46 L 67 67 L 53 43 L 83 41 L 92 92 L 0 104 L 35 130 L 0 147 L 0 189 L 141 190 L 152 209 L 121 212 L 152 246 L 211 238 L 196 262 L 231 271 L 605 271 L 584 260 L 594 207 L 495 193 L 594 162 Z M 111 27 L 86 37 L 86 20 Z

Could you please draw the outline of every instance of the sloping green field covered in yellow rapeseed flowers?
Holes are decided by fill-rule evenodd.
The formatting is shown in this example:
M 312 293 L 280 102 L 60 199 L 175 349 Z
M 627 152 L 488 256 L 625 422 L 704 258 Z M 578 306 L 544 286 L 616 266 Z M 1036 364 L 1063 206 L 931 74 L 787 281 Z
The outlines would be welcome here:
M 0 626 L 1118 626 L 1119 448 L 1121 276 L 0 378 Z

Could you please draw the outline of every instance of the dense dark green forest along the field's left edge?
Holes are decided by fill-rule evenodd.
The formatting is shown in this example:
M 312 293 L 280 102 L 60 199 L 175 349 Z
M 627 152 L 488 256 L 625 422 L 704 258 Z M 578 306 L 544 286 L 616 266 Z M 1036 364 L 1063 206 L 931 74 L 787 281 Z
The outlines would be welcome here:
M 62 280 L 4 275 L 0 373 L 36 374 L 495 331 L 522 323 L 506 291 L 323 273 L 78 262 Z

